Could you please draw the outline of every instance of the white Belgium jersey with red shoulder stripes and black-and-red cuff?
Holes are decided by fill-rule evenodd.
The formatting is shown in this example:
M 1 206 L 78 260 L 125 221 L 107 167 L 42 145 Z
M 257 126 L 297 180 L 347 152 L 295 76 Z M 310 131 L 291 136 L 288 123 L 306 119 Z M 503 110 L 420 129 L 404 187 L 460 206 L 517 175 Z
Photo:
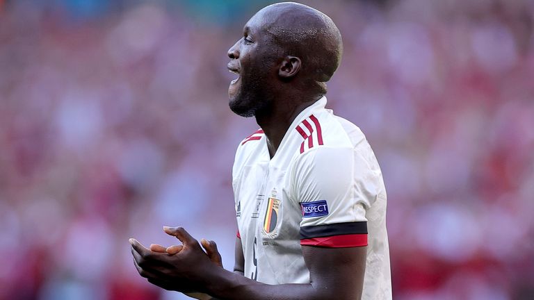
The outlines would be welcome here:
M 237 149 L 232 185 L 245 276 L 309 283 L 301 245 L 368 246 L 362 299 L 391 299 L 386 190 L 357 126 L 316 101 L 270 159 L 258 130 Z

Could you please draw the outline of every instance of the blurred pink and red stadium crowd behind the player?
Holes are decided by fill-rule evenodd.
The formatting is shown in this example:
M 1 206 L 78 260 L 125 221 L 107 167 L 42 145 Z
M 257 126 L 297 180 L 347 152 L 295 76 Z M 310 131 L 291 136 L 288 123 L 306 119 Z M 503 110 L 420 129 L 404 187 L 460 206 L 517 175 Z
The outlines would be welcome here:
M 389 194 L 394 299 L 534 299 L 534 1 L 302 1 Z M 162 225 L 233 265 L 227 49 L 269 1 L 0 0 L 0 299 L 183 299 Z

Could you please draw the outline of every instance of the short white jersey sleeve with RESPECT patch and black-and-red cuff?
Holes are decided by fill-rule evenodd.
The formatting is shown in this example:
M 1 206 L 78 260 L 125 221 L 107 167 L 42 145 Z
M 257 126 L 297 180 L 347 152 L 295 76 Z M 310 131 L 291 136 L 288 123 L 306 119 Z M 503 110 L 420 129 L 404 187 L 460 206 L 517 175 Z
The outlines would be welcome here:
M 321 147 L 303 153 L 293 169 L 293 197 L 302 210 L 300 244 L 367 245 L 369 167 L 352 148 Z M 373 190 L 371 188 L 371 190 Z

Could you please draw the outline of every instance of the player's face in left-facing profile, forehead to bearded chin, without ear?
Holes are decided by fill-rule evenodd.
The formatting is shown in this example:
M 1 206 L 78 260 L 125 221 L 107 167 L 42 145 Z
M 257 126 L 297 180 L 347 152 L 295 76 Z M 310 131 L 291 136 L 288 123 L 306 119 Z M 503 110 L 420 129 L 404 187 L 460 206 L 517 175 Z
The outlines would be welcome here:
M 228 51 L 230 72 L 238 74 L 228 88 L 230 109 L 252 117 L 272 101 L 275 82 L 275 47 L 265 30 L 264 14 L 258 12 L 243 28 L 243 38 Z

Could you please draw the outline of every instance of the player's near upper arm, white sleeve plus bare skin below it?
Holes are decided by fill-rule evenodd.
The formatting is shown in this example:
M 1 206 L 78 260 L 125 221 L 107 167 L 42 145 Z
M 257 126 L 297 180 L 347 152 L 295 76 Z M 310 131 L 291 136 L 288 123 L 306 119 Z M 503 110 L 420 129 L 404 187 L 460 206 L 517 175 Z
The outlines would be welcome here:
M 320 299 L 360 299 L 368 244 L 366 209 L 375 197 L 376 183 L 368 176 L 372 171 L 350 147 L 304 155 L 293 186 L 302 208 L 300 244 L 311 283 Z

